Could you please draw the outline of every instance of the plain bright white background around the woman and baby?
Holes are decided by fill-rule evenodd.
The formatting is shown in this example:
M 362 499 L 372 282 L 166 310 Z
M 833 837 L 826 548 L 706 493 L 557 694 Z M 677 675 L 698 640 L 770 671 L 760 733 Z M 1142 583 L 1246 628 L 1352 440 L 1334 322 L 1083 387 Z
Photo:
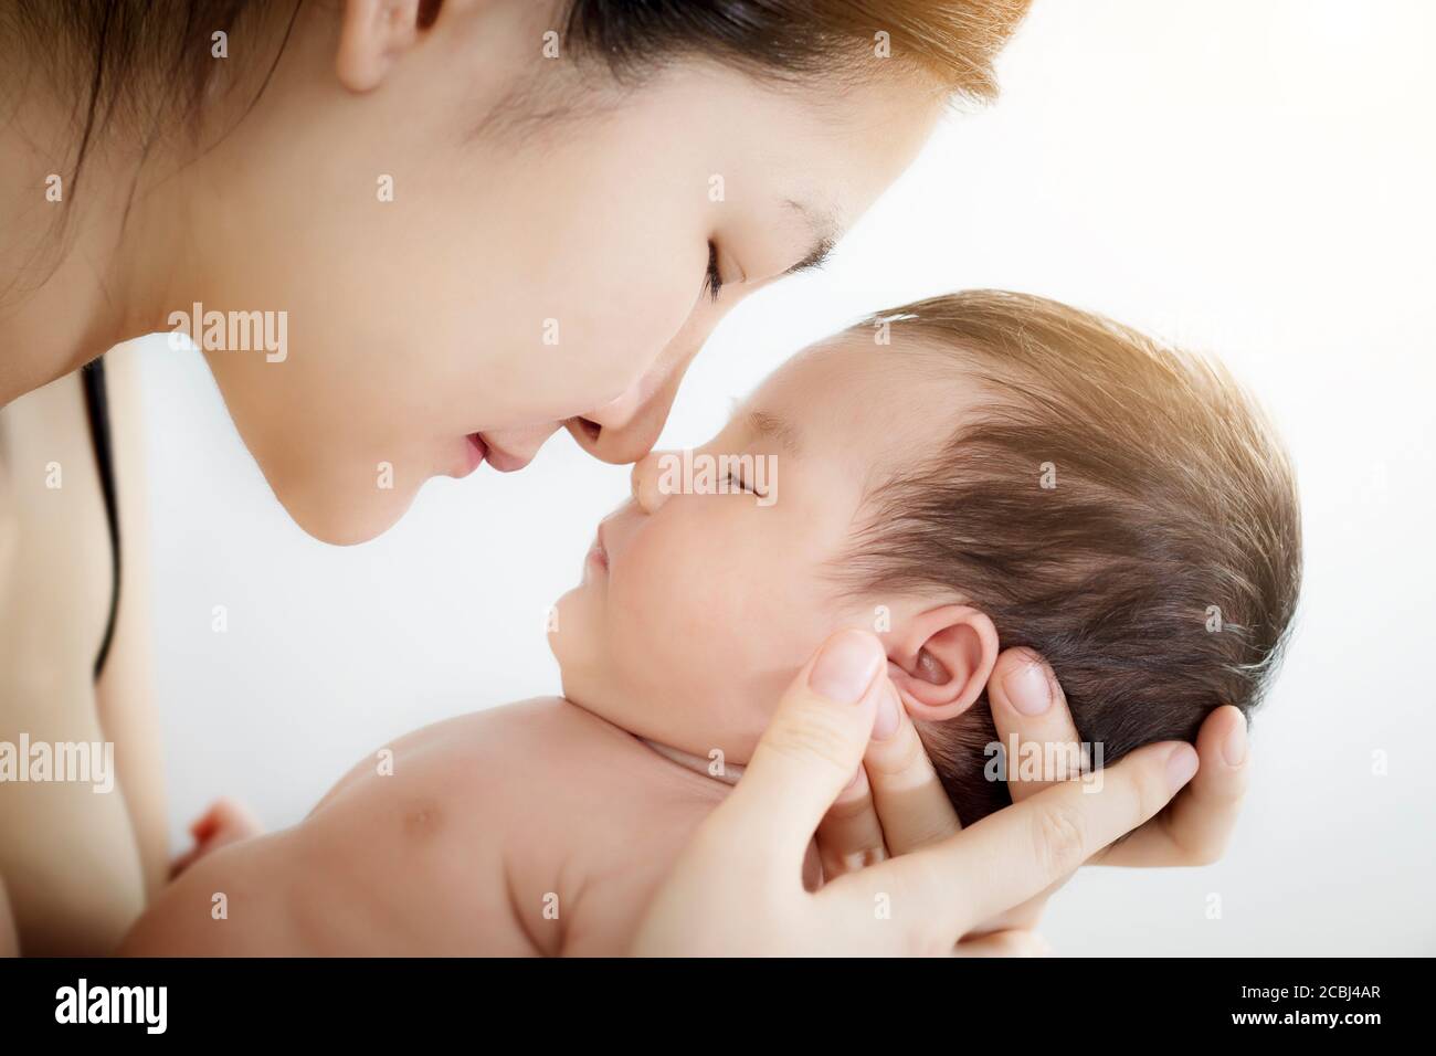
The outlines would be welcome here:
M 1241 826 L 1212 868 L 1081 874 L 1045 918 L 1058 953 L 1436 953 L 1433 10 L 1040 0 L 999 105 L 943 128 L 824 272 L 735 310 L 663 435 L 701 443 L 804 342 L 966 286 L 1215 351 L 1262 394 L 1307 568 Z M 544 612 L 623 468 L 556 437 L 526 473 L 434 481 L 383 539 L 326 547 L 198 353 L 139 348 L 177 848 L 217 795 L 292 823 L 396 734 L 559 690 Z

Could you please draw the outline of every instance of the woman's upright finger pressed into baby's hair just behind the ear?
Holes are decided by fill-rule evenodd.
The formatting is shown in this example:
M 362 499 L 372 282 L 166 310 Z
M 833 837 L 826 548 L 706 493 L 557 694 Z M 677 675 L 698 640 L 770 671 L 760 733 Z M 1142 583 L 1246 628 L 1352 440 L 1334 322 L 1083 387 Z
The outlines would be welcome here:
M 1007 753 L 1007 789 L 1021 803 L 1083 773 L 1081 744 L 1067 695 L 1031 649 L 1007 649 L 988 680 L 988 703 Z

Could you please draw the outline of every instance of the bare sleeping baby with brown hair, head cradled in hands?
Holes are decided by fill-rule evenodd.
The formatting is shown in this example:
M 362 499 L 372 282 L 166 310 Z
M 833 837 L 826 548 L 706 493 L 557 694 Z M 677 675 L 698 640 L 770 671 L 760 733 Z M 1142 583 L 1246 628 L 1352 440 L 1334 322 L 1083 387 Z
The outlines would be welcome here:
M 879 632 L 971 823 L 1007 802 L 999 649 L 1051 662 L 1103 763 L 1192 740 L 1261 698 L 1300 547 L 1291 467 L 1218 368 L 1038 297 L 909 305 L 635 467 L 551 621 L 563 700 L 414 733 L 201 853 L 125 951 L 622 953 L 831 631 Z

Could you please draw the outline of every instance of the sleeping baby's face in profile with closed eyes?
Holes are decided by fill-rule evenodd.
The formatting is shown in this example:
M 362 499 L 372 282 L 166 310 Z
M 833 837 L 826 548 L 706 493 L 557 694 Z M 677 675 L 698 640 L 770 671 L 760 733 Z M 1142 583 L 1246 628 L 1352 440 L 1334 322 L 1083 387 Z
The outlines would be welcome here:
M 844 595 L 833 573 L 869 488 L 958 424 L 964 392 L 935 378 L 926 356 L 849 332 L 788 361 L 686 461 L 639 463 L 635 497 L 599 526 L 583 582 L 559 602 L 564 695 L 742 763 L 831 631 L 879 629 L 879 605 L 899 628 L 933 603 Z M 704 487 L 708 470 L 722 483 Z

